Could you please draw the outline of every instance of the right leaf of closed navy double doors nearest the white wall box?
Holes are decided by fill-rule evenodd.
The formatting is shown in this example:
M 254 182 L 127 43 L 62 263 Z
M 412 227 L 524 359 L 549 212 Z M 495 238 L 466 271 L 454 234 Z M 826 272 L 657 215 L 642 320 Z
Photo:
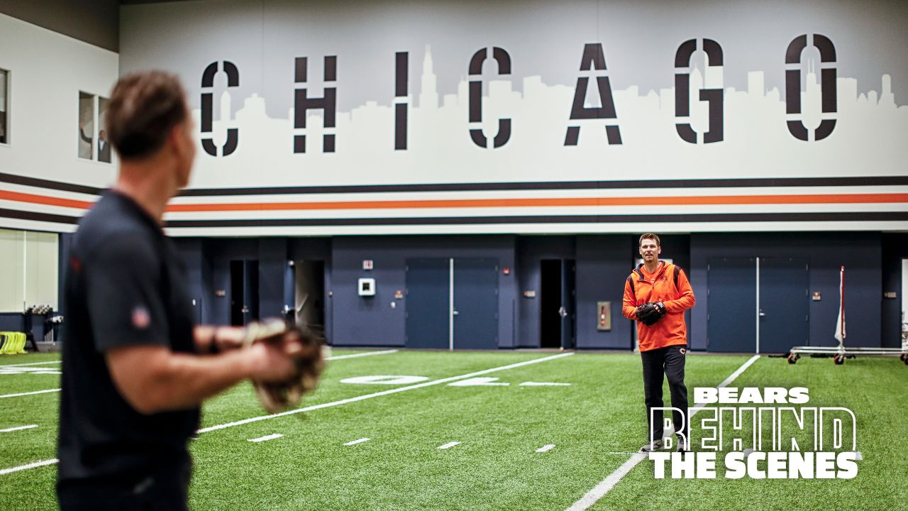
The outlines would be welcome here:
M 454 347 L 498 348 L 498 260 L 454 259 Z

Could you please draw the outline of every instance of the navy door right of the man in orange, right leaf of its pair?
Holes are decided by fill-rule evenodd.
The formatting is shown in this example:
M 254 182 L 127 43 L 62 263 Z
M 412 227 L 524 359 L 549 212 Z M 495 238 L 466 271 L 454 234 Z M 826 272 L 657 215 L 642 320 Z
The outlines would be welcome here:
M 760 257 L 760 353 L 807 346 L 807 260 Z

